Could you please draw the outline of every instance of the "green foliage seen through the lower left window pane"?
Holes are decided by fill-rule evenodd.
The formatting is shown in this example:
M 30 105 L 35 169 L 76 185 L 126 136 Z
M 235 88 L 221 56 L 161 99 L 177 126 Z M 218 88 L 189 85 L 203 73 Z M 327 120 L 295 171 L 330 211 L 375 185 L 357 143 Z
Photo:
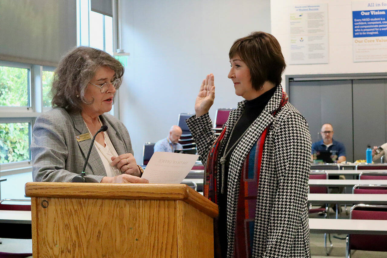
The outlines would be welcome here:
M 29 159 L 29 123 L 0 124 L 0 163 Z

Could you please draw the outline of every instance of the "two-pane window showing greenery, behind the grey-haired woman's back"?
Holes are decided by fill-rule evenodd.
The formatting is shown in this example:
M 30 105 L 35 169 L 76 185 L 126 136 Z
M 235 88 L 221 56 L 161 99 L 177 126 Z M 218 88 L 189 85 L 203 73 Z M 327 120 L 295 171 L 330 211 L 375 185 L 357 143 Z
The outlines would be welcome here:
M 51 108 L 55 67 L 0 61 L 0 164 L 2 171 L 31 167 L 34 120 Z M 31 170 L 30 170 L 31 171 Z M 9 174 L 13 174 L 10 172 Z

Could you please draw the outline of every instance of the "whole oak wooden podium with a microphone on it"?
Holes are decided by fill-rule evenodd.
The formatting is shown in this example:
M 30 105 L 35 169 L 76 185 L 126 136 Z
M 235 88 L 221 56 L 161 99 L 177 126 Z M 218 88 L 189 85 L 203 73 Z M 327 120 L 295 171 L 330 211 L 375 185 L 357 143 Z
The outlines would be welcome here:
M 185 184 L 29 182 L 34 257 L 214 257 L 217 205 Z

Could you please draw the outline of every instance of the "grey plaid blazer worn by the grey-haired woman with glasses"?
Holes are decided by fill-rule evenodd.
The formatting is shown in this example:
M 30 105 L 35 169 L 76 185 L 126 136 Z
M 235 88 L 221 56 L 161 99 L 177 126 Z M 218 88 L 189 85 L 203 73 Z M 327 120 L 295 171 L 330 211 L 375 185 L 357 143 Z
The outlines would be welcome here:
M 108 126 L 107 133 L 118 155 L 133 154 L 128 130 L 122 122 L 109 114 L 100 115 L 99 118 Z M 33 180 L 70 182 L 82 172 L 91 139 L 78 142 L 75 136 L 87 132 L 80 113 L 68 113 L 63 108 L 53 108 L 39 116 L 32 131 Z M 106 176 L 101 157 L 94 145 L 85 173 L 99 182 Z

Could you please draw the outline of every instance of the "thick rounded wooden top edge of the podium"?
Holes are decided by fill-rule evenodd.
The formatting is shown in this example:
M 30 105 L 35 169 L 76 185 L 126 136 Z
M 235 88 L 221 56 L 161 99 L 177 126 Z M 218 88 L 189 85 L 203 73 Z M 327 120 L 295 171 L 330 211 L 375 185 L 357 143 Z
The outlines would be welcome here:
M 185 184 L 27 182 L 25 192 L 32 198 L 182 200 L 211 217 L 218 214 L 215 203 Z

